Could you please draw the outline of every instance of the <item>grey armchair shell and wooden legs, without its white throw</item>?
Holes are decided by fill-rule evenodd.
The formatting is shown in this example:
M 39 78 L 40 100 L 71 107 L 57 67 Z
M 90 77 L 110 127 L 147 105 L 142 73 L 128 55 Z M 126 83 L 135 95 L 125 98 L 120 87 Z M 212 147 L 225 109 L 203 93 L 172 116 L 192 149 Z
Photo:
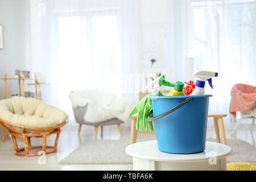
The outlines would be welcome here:
M 102 121 L 102 122 L 97 122 L 97 123 L 86 122 L 85 119 L 84 119 L 84 115 L 86 113 L 86 110 L 87 110 L 87 106 L 76 107 L 76 108 L 73 107 L 73 112 L 74 112 L 74 115 L 75 115 L 76 122 L 79 123 L 79 133 L 78 133 L 79 135 L 80 135 L 82 125 L 94 126 L 94 138 L 95 139 L 97 139 L 98 126 L 101 126 L 101 134 L 102 134 L 103 133 L 103 126 L 117 125 L 119 133 L 122 137 L 121 123 L 123 123 L 123 121 L 121 121 L 117 118 L 113 118 L 113 119 L 109 119 L 109 120 Z

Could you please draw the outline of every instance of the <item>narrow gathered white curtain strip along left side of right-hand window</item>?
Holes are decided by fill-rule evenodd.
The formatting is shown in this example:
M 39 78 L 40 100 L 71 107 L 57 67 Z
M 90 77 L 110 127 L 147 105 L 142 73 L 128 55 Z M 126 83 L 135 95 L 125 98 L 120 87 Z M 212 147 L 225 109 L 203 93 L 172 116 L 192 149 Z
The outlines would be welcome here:
M 193 56 L 193 18 L 191 0 L 171 0 L 169 3 L 168 24 L 168 77 L 171 80 L 185 80 L 186 58 Z

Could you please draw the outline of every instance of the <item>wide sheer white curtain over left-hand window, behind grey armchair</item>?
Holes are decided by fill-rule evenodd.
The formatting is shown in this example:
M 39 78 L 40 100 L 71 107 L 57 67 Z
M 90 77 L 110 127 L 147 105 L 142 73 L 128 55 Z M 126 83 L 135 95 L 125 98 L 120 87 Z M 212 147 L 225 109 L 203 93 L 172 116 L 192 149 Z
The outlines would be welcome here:
M 40 17 L 42 57 L 51 83 L 44 100 L 73 120 L 68 95 L 102 89 L 134 99 L 123 89 L 138 73 L 139 13 L 136 0 L 45 0 Z M 44 11 L 42 10 L 42 11 Z M 36 66 L 35 66 L 36 67 Z

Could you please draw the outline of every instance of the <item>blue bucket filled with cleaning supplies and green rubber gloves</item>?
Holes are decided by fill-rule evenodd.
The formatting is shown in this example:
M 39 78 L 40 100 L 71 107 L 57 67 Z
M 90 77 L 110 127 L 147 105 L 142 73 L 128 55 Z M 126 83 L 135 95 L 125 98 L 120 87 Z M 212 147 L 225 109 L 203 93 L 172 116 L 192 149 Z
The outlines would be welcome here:
M 191 96 L 174 96 L 177 92 L 183 91 L 184 84 L 176 82 L 180 87 L 175 89 L 175 84 L 167 82 L 164 76 L 160 76 L 151 84 L 152 94 L 148 94 L 135 106 L 129 118 L 138 113 L 136 129 L 139 131 L 144 129 L 152 131 L 152 121 L 154 121 L 160 151 L 173 154 L 202 152 L 205 148 L 209 97 L 212 97 L 204 94 L 204 82 L 208 80 L 212 87 L 211 78 L 217 75 L 216 72 L 207 71 L 195 73 L 193 76 L 197 78 L 196 85 L 192 81 L 186 83 L 188 85 L 188 89 L 185 89 L 188 91 L 186 94 L 198 89 L 195 95 Z M 174 87 L 175 92 L 172 91 L 174 94 L 170 97 L 161 93 L 159 91 L 161 85 Z

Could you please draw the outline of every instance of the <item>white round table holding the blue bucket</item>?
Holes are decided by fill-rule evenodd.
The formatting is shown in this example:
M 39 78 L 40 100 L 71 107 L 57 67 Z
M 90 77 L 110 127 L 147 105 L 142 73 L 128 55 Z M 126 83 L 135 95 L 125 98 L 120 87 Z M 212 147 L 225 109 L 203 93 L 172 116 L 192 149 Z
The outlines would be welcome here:
M 156 140 L 130 144 L 126 154 L 133 156 L 134 171 L 156 170 L 226 170 L 226 156 L 232 148 L 225 144 L 206 142 L 205 150 L 197 154 L 168 154 L 158 150 Z

